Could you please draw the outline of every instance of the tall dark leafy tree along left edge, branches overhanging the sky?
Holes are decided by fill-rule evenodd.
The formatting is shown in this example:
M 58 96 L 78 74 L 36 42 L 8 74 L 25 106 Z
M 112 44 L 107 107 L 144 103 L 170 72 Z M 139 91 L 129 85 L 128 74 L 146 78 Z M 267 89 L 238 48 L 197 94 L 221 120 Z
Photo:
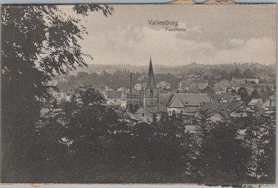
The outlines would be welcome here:
M 113 8 L 73 6 L 78 14 Z M 51 97 L 47 83 L 65 68 L 86 66 L 79 40 L 86 29 L 80 19 L 59 6 L 1 7 L 1 180 L 13 182 L 30 174 L 35 121 L 40 100 Z M 19 170 L 20 169 L 20 170 Z M 17 179 L 20 181 L 20 179 Z

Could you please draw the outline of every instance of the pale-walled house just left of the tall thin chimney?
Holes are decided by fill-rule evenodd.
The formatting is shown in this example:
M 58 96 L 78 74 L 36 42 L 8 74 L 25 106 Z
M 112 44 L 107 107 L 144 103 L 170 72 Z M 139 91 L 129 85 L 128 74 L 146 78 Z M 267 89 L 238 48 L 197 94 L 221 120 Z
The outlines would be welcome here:
M 126 95 L 124 92 L 107 91 L 105 97 L 108 105 L 120 105 L 122 108 L 126 108 Z

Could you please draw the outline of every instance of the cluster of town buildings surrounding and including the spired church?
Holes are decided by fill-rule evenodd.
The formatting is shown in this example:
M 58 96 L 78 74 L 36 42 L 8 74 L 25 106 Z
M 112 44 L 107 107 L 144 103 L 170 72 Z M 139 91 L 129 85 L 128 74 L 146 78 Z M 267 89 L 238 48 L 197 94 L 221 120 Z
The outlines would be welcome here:
M 190 131 L 198 128 L 193 119 L 199 116 L 200 110 L 206 110 L 212 122 L 230 121 L 232 118 L 246 117 L 249 112 L 263 113 L 275 106 L 275 95 L 269 99 L 250 99 L 245 103 L 238 94 L 240 87 L 245 87 L 250 95 L 254 89 L 258 92 L 273 90 L 272 83 L 259 83 L 258 78 L 233 78 L 219 80 L 212 86 L 199 76 L 191 76 L 179 82 L 177 90 L 171 90 L 170 83 L 155 82 L 152 58 L 149 60 L 147 78 L 136 83 L 133 87 L 130 75 L 129 89 L 120 87 L 117 91 L 105 89 L 108 105 L 120 105 L 126 111 L 131 123 L 160 121 L 162 114 L 169 116 L 184 114 L 185 125 Z M 145 81 L 145 82 L 144 82 Z M 132 112 L 132 113 L 131 113 Z

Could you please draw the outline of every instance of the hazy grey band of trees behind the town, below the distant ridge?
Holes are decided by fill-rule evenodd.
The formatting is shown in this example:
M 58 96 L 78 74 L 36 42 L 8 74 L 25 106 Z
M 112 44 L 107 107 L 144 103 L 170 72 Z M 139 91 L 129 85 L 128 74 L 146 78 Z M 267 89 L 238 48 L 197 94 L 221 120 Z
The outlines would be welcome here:
M 226 79 L 230 80 L 232 78 L 255 78 L 256 74 L 259 74 L 261 72 L 265 72 L 264 69 L 245 69 L 245 71 L 240 71 L 238 67 L 235 69 L 227 72 L 225 70 L 221 69 L 210 69 L 210 74 L 213 76 L 206 75 L 202 69 L 193 70 L 190 73 L 191 74 L 197 74 L 208 81 L 208 85 L 213 87 L 215 83 L 217 83 L 220 80 Z M 161 82 L 162 80 L 165 80 L 167 83 L 171 84 L 172 89 L 177 89 L 179 82 L 186 78 L 186 75 L 180 76 L 177 78 L 177 76 L 174 76 L 173 74 L 156 74 L 155 80 L 156 83 Z M 273 80 L 275 80 L 275 76 L 272 77 Z M 106 85 L 107 87 L 111 89 L 118 89 L 120 87 L 130 87 L 130 71 L 126 69 L 117 69 L 113 73 L 108 73 L 107 71 L 102 71 L 100 74 L 97 74 L 95 72 L 87 73 L 87 72 L 78 72 L 76 75 L 68 75 L 68 76 L 59 76 L 53 78 L 53 80 L 56 80 L 58 85 L 57 87 L 59 89 L 63 90 L 70 90 L 72 88 L 77 88 L 79 85 L 82 84 L 92 84 L 92 85 Z M 136 83 L 146 83 L 147 82 L 147 75 L 145 73 L 140 74 L 139 72 L 133 73 L 132 77 L 132 85 L 136 85 Z M 260 80 L 262 83 L 268 83 L 268 81 Z

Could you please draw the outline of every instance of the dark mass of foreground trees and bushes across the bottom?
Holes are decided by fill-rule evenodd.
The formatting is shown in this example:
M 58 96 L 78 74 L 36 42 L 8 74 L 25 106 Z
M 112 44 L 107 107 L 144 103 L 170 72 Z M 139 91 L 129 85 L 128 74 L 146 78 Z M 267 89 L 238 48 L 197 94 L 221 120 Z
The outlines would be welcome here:
M 33 142 L 24 163 L 2 174 L 5 182 L 275 182 L 273 114 L 213 123 L 201 111 L 196 134 L 185 131 L 184 115 L 131 126 L 105 103 L 97 89 L 84 85 L 78 99 L 50 110 L 28 135 Z

